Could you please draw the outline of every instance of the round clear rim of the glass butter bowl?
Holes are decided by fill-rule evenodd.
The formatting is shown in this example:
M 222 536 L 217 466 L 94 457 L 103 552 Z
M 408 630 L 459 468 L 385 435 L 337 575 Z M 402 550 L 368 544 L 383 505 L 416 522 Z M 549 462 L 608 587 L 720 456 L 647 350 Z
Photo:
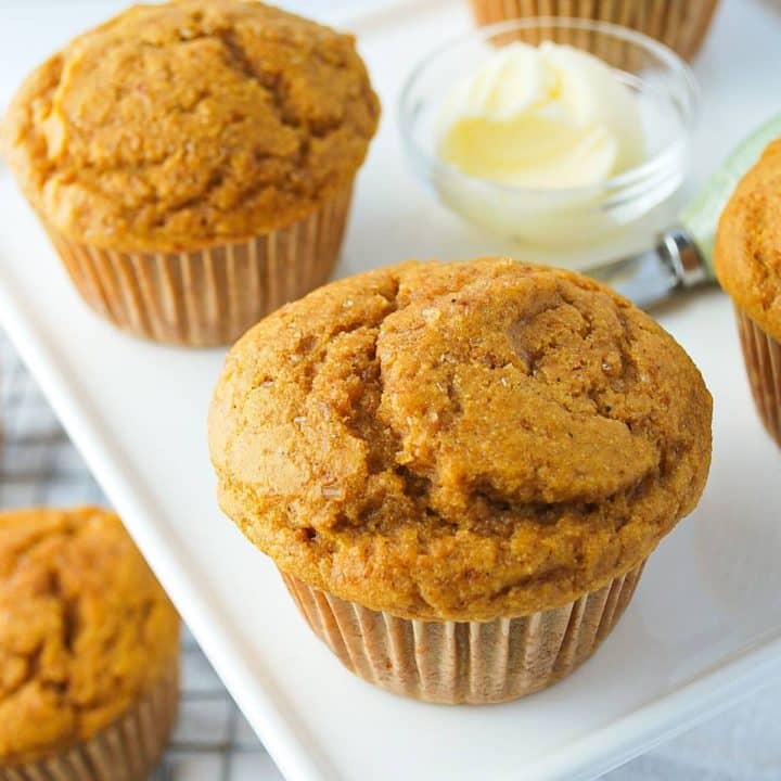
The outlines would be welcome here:
M 592 33 L 603 33 L 625 42 L 633 43 L 655 55 L 682 85 L 684 94 L 688 98 L 686 105 L 682 106 L 683 117 L 680 131 L 676 133 L 674 139 L 664 149 L 654 154 L 652 157 L 644 159 L 639 165 L 633 166 L 622 174 L 613 176 L 605 181 L 575 188 L 516 187 L 513 184 L 497 182 L 484 177 L 464 174 L 457 166 L 446 163 L 436 155 L 430 154 L 421 146 L 421 144 L 418 143 L 415 135 L 412 131 L 412 92 L 421 76 L 432 64 L 434 64 L 441 55 L 470 41 L 485 41 L 503 33 L 537 29 L 540 27 L 547 27 L 549 29 L 581 29 Z M 612 66 L 609 65 L 609 67 Z M 478 27 L 477 29 L 470 30 L 469 33 L 462 33 L 461 35 L 451 37 L 434 50 L 430 51 L 415 64 L 405 79 L 397 102 L 397 112 L 404 144 L 413 159 L 423 164 L 425 170 L 432 170 L 437 174 L 447 174 L 451 177 L 464 179 L 472 184 L 479 184 L 508 194 L 539 195 L 540 197 L 584 197 L 587 195 L 593 196 L 599 193 L 615 193 L 616 191 L 624 190 L 625 188 L 631 188 L 649 179 L 656 180 L 657 176 L 667 171 L 668 168 L 676 166 L 678 153 L 686 148 L 689 139 L 691 138 L 692 128 L 699 115 L 700 101 L 700 86 L 692 68 L 669 47 L 651 38 L 650 36 L 638 33 L 629 27 L 623 27 L 622 25 L 612 24 L 610 22 L 599 22 L 566 16 L 527 16 L 524 18 L 508 20 L 505 22 L 485 25 Z

